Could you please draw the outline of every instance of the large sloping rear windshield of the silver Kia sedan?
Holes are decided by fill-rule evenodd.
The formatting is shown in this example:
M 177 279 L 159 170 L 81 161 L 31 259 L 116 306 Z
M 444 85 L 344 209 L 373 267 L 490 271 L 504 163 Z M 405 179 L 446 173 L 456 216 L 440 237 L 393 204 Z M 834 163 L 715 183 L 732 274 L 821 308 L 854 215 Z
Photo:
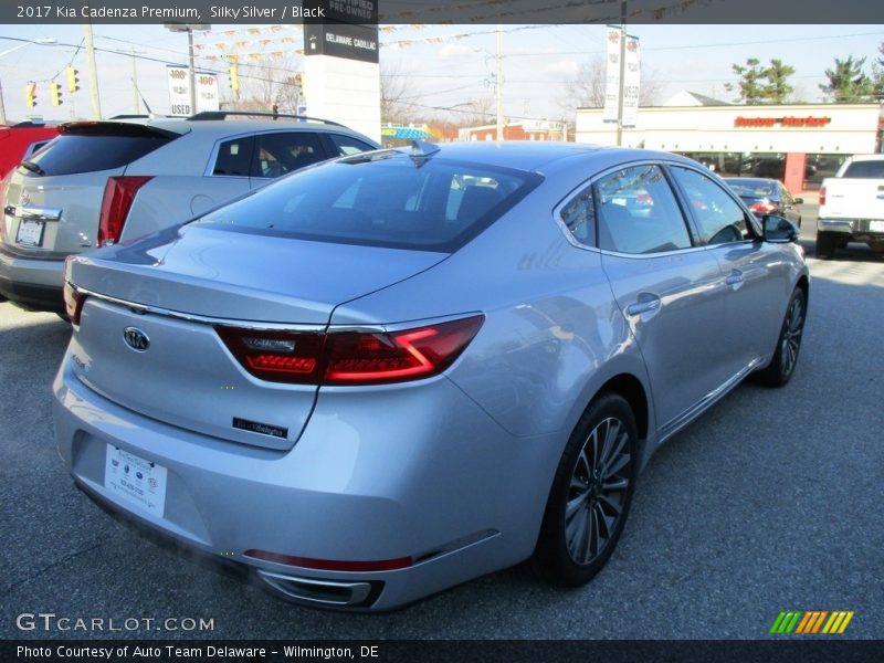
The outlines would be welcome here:
M 402 152 L 283 178 L 196 221 L 305 240 L 453 252 L 522 200 L 537 173 Z

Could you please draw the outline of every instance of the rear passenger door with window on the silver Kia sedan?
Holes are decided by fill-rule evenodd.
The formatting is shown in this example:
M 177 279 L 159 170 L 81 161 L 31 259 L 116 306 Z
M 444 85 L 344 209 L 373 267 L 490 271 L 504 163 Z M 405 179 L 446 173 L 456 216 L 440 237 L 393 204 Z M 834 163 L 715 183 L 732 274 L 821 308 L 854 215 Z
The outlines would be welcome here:
M 660 165 L 603 175 L 596 200 L 602 269 L 641 349 L 665 435 L 727 379 L 717 344 L 720 267 L 697 246 Z

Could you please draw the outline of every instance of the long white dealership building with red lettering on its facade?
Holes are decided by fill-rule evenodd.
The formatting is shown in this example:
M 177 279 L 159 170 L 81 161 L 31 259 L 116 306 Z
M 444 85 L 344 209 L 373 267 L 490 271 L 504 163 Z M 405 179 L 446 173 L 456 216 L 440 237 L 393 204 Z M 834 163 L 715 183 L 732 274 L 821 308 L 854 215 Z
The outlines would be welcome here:
M 578 108 L 580 143 L 617 144 L 602 108 Z M 686 155 L 722 176 L 771 177 L 793 191 L 817 189 L 843 160 L 881 151 L 878 104 L 738 106 L 681 92 L 639 109 L 622 145 Z

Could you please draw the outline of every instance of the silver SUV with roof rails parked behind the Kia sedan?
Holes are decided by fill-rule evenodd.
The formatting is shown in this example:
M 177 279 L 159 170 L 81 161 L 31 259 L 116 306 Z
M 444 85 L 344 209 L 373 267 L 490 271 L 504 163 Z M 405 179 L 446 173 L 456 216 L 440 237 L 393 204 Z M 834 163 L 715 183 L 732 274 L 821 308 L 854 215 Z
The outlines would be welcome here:
M 240 115 L 61 125 L 57 140 L 7 180 L 0 294 L 61 313 L 65 256 L 180 223 L 286 172 L 378 147 L 332 122 Z

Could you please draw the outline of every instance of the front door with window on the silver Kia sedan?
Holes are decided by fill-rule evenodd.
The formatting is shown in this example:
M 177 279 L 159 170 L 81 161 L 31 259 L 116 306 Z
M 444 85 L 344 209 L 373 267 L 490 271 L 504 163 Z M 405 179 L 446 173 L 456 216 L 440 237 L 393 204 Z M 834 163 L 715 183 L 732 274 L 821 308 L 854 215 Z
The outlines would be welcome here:
M 786 302 L 781 272 L 789 270 L 776 246 L 761 241 L 755 215 L 709 172 L 670 166 L 684 197 L 701 241 L 718 261 L 725 277 L 724 329 L 719 337 L 722 358 L 732 376 L 745 375 L 771 349 Z M 777 274 L 780 273 L 780 274 Z M 771 313 L 782 307 L 782 314 Z

